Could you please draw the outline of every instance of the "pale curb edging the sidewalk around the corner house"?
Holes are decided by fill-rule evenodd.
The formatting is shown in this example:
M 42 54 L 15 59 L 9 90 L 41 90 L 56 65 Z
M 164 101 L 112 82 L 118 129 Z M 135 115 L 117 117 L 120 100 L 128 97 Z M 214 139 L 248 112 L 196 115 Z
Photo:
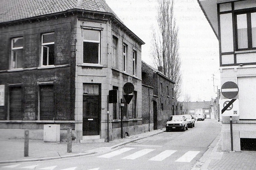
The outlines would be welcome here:
M 161 130 L 160 132 L 148 135 L 148 136 L 143 136 L 143 137 L 138 137 L 136 139 L 132 139 L 130 141 L 126 141 L 126 142 L 122 142 L 119 144 L 115 144 L 111 147 L 109 147 L 110 149 L 114 149 L 116 147 L 140 140 L 140 139 L 144 139 L 147 138 L 149 136 L 154 136 L 160 133 L 163 133 L 165 130 Z M 95 149 L 94 149 L 95 150 Z M 79 156 L 89 156 L 89 155 L 93 155 L 96 154 L 98 152 L 88 152 L 88 153 L 78 153 L 78 154 L 74 154 L 74 155 L 64 155 L 64 156 L 56 156 L 56 157 L 46 157 L 46 158 L 34 158 L 34 159 L 19 159 L 19 160 L 10 160 L 10 161 L 0 161 L 0 164 L 10 164 L 10 163 L 19 163 L 19 162 L 32 162 L 32 161 L 48 161 L 48 160 L 54 160 L 54 159 L 64 159 L 64 158 L 73 158 L 73 157 L 79 157 Z

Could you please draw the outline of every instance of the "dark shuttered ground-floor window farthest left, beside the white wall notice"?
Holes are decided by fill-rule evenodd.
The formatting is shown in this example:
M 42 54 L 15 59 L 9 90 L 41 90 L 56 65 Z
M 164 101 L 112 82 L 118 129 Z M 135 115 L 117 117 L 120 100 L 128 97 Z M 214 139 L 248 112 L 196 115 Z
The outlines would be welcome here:
M 9 120 L 22 120 L 22 88 L 9 87 Z

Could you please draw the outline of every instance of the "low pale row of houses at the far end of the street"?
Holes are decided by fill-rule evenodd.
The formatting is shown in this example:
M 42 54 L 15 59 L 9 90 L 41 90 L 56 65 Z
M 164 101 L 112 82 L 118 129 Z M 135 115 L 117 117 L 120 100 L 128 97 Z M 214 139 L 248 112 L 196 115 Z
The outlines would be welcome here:
M 183 114 L 191 114 L 197 117 L 204 114 L 206 119 L 211 119 L 211 101 L 203 102 L 182 102 Z

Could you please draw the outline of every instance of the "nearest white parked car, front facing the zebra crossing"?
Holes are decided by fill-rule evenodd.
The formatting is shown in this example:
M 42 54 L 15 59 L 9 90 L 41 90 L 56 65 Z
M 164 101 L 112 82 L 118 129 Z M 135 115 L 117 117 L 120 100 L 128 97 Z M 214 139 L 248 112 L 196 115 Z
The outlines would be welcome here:
M 186 121 L 186 117 L 183 115 L 174 115 L 171 116 L 166 122 L 166 131 L 172 130 L 188 130 L 188 122 Z

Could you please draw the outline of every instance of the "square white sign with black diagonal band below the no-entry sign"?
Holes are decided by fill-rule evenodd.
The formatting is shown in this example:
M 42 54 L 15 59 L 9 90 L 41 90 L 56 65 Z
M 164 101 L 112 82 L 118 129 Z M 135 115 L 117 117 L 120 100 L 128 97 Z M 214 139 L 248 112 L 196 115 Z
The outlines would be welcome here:
M 239 99 L 221 99 L 220 110 L 222 116 L 239 116 Z

